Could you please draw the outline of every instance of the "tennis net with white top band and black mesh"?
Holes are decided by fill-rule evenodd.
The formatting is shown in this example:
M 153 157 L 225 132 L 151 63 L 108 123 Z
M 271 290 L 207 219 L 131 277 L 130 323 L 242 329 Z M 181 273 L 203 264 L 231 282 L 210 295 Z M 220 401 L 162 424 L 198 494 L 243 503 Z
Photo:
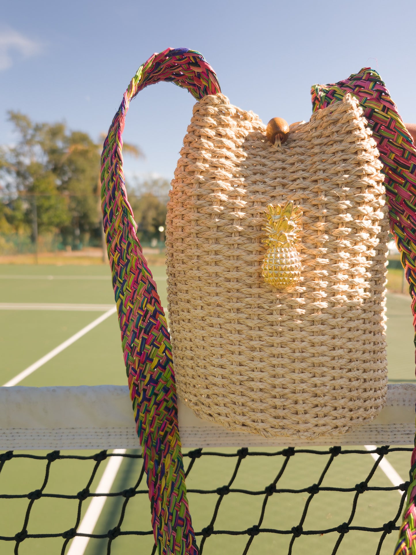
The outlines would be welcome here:
M 328 447 L 251 435 L 236 447 L 241 438 L 181 407 L 200 553 L 392 553 L 409 486 L 394 468 L 403 476 L 412 451 L 397 444 L 414 433 L 413 388 L 389 386 L 377 421 Z M 0 403 L 2 554 L 156 553 L 127 388 L 12 387 Z M 364 439 L 393 445 L 351 443 Z

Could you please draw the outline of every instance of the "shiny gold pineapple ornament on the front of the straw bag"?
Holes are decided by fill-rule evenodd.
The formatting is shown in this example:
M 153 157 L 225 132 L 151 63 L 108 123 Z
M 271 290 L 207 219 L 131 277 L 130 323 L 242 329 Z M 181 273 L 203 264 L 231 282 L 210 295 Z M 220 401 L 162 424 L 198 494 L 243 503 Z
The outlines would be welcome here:
M 301 276 L 301 259 L 295 242 L 302 212 L 298 206 L 293 207 L 290 200 L 283 207 L 269 204 L 265 213 L 267 224 L 263 229 L 268 237 L 263 243 L 268 249 L 261 266 L 262 275 L 273 287 L 288 289 L 296 285 Z

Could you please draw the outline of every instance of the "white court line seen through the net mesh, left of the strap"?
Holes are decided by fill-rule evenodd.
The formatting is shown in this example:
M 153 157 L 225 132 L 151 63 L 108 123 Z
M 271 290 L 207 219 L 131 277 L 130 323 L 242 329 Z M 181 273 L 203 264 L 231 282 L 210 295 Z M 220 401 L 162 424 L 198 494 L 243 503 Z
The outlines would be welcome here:
M 126 452 L 125 449 L 114 449 L 113 453 L 120 453 L 123 455 Z M 103 476 L 97 486 L 95 493 L 109 493 L 111 487 L 113 486 L 115 477 L 119 471 L 121 462 L 123 462 L 123 457 L 110 457 L 110 460 L 105 467 Z M 77 532 L 81 534 L 92 534 L 94 532 L 95 524 L 100 517 L 103 510 L 104 503 L 107 497 L 93 497 L 88 506 L 87 512 L 84 514 Z M 83 555 L 85 549 L 87 548 L 90 538 L 85 536 L 76 536 L 71 543 L 67 555 Z

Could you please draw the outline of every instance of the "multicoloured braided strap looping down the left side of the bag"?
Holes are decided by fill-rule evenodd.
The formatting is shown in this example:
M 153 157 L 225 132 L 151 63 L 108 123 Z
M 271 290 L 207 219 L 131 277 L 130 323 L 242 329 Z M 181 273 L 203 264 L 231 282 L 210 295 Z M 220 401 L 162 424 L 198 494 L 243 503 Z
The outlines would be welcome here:
M 130 100 L 139 90 L 160 81 L 186 88 L 197 99 L 220 92 L 214 71 L 199 52 L 168 48 L 140 66 L 104 142 L 103 223 L 130 396 L 143 448 L 155 542 L 163 555 L 196 555 L 177 425 L 170 335 L 136 235 L 121 154 L 121 134 Z

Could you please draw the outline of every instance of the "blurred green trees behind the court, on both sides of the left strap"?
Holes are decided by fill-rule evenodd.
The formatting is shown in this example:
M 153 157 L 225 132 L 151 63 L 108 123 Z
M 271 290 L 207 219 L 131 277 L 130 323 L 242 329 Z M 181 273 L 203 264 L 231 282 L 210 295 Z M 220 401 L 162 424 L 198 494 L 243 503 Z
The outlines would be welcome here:
M 19 112 L 8 118 L 17 140 L 0 147 L 0 254 L 17 243 L 33 245 L 38 235 L 49 237 L 49 248 L 50 238 L 54 248 L 100 246 L 102 144 L 64 123 L 35 123 Z M 123 150 L 143 155 L 134 145 Z M 164 240 L 169 182 L 150 178 L 127 186 L 140 240 Z

